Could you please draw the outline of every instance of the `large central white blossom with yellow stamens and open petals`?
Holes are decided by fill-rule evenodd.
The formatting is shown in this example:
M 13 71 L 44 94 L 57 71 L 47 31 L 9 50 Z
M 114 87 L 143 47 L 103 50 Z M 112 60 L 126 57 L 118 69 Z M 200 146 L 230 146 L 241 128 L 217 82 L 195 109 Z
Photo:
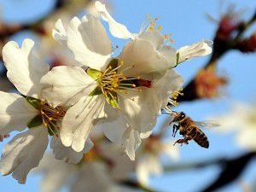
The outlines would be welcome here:
M 62 143 L 79 152 L 96 123 L 104 123 L 105 135 L 134 160 L 160 108 L 183 84 L 170 69 L 177 64 L 176 49 L 164 45 L 159 32 L 144 32 L 142 38 L 127 43 L 117 58 L 111 58 L 107 32 L 92 15 L 73 18 L 66 29 L 58 20 L 53 35 L 61 44 L 64 40 L 80 64 L 55 67 L 41 79 L 47 100 L 72 106 L 62 121 Z

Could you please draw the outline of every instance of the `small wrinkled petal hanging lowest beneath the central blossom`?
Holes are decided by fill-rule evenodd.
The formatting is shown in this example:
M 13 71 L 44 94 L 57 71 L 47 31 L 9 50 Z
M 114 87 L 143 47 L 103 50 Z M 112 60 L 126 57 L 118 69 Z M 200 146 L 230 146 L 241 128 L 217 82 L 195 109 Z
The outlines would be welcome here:
M 131 160 L 135 160 L 135 151 L 142 143 L 139 132 L 130 128 L 125 132 L 123 137 L 125 140 L 123 145 L 125 153 Z

